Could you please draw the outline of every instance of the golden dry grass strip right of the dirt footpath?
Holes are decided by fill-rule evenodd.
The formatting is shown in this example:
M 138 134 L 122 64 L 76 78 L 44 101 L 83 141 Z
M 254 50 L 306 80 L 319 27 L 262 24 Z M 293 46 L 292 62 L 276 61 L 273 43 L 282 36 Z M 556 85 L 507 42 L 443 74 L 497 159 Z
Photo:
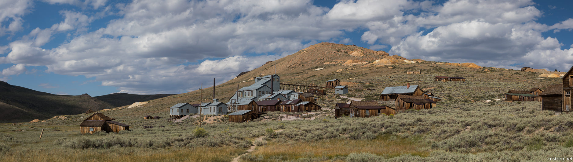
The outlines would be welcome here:
M 404 153 L 426 157 L 430 151 L 424 143 L 418 142 L 418 137 L 407 139 L 396 136 L 380 136 L 374 140 L 324 140 L 320 142 L 291 142 L 269 143 L 258 147 L 252 152 L 254 156 L 263 156 L 264 159 L 281 157 L 282 160 L 297 160 L 301 158 L 346 157 L 350 153 L 369 152 L 386 158 L 395 157 Z

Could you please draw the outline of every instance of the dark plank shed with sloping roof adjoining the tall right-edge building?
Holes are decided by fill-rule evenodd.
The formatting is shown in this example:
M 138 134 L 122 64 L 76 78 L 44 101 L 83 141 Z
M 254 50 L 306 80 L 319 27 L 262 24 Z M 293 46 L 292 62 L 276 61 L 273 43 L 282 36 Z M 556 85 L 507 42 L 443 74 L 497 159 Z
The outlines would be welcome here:
M 563 84 L 554 84 L 541 92 L 541 110 L 562 112 Z

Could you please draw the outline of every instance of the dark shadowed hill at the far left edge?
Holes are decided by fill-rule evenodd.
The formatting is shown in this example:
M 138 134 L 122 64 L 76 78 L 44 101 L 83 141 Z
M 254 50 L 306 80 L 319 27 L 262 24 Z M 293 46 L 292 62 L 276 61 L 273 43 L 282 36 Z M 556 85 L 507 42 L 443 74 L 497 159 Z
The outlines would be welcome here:
M 88 94 L 54 95 L 0 81 L 0 123 L 49 119 L 55 115 L 81 114 L 89 109 L 113 108 Z

